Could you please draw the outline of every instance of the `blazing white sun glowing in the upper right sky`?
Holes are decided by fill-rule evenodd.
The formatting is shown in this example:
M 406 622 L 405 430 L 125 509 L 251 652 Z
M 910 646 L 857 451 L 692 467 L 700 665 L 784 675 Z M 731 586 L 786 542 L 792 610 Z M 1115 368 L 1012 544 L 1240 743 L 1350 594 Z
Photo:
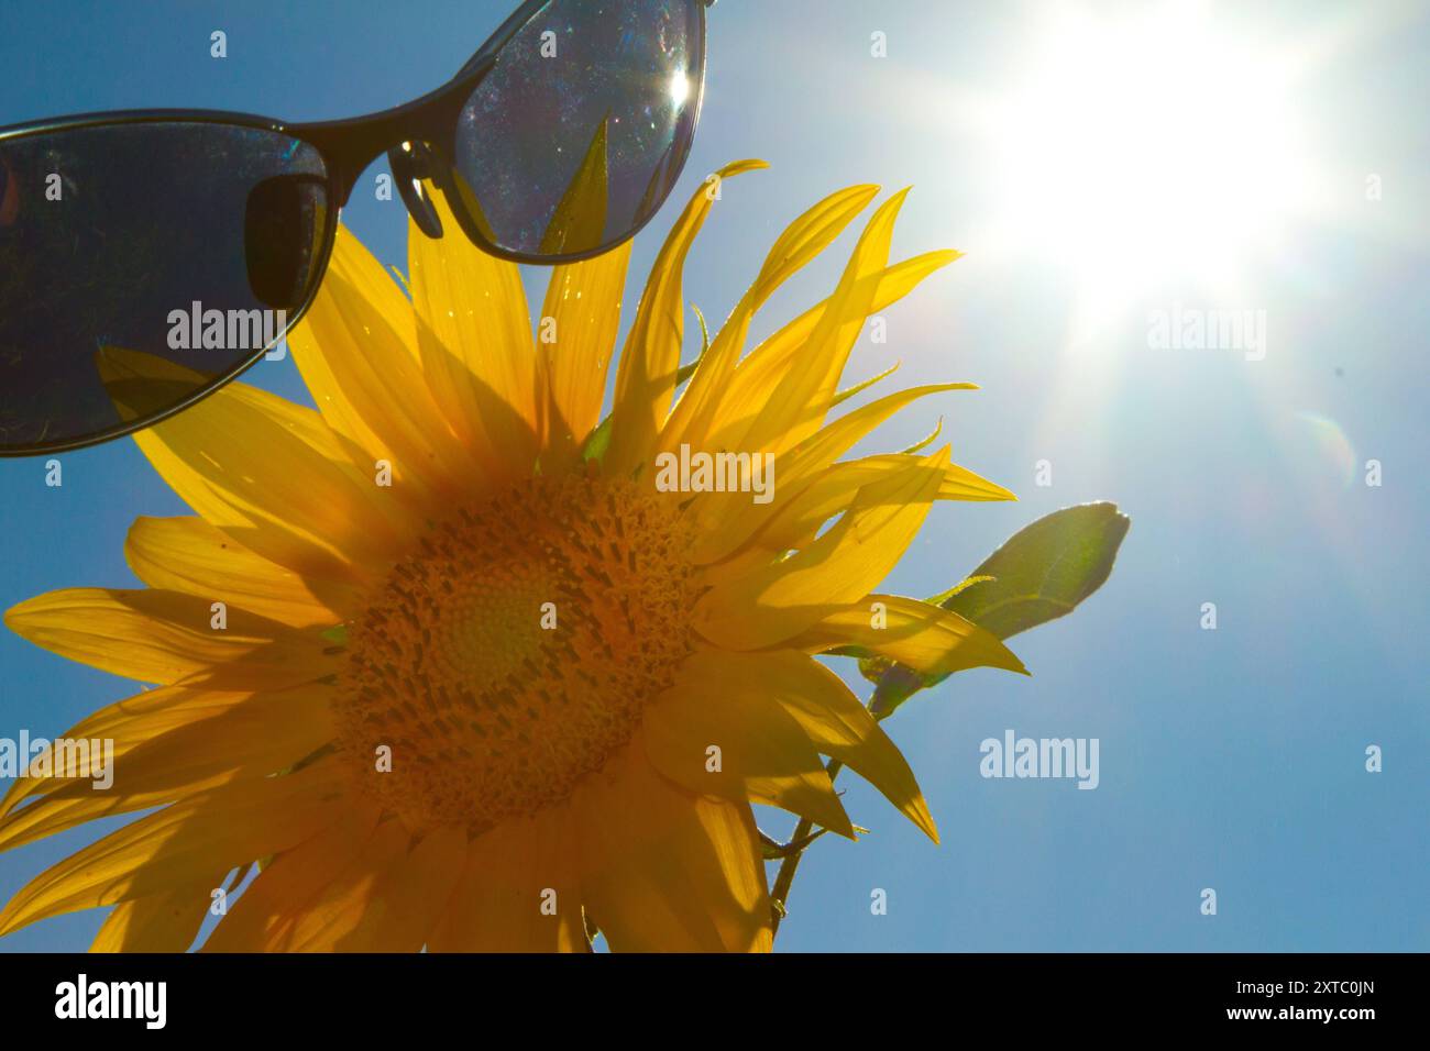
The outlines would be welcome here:
M 1198 4 L 1058 9 L 985 114 L 998 243 L 1075 272 L 1083 327 L 1175 286 L 1236 297 L 1313 206 L 1296 50 Z

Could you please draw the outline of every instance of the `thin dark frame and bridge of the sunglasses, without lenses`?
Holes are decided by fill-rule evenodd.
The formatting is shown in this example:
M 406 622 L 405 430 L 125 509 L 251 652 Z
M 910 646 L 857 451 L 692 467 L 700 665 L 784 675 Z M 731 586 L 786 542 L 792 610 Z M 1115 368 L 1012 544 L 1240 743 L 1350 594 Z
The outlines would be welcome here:
M 303 142 L 317 150 L 323 160 L 326 174 L 325 189 L 327 193 L 322 243 L 315 246 L 316 250 L 313 253 L 313 259 L 317 265 L 312 270 L 313 276 L 309 279 L 309 286 L 303 292 L 302 303 L 297 309 L 290 312 L 287 326 L 277 336 L 277 339 L 267 346 L 255 350 L 253 355 L 232 367 L 229 372 L 199 388 L 190 396 L 176 402 L 162 412 L 152 413 L 136 420 L 124 420 L 116 423 L 113 428 L 107 428 L 106 430 L 100 430 L 93 435 L 84 435 L 82 438 L 34 443 L 29 446 L 0 446 L 0 459 L 73 452 L 93 445 L 102 445 L 116 438 L 123 438 L 124 435 L 132 435 L 136 430 L 150 428 L 154 423 L 160 423 L 170 416 L 189 409 L 247 372 L 253 365 L 262 360 L 265 355 L 287 337 L 287 333 L 292 332 L 293 327 L 302 320 L 307 307 L 312 306 L 313 299 L 317 296 L 323 277 L 327 275 L 327 265 L 332 260 L 333 245 L 337 240 L 340 212 L 346 207 L 347 199 L 352 196 L 352 190 L 353 186 L 356 186 L 358 179 L 380 156 L 409 143 L 425 143 L 430 147 L 438 162 L 430 166 L 432 182 L 439 190 L 442 190 L 452 214 L 456 216 L 458 224 L 462 227 L 462 233 L 466 235 L 466 237 L 479 249 L 499 259 L 505 259 L 512 263 L 529 263 L 536 266 L 579 263 L 585 259 L 592 259 L 609 252 L 645 229 L 646 223 L 649 223 L 655 217 L 655 213 L 659 212 L 659 207 L 651 209 L 651 213 L 641 219 L 641 222 L 631 227 L 623 236 L 585 252 L 553 255 L 511 252 L 493 245 L 490 239 L 480 232 L 478 223 L 472 219 L 466 206 L 462 203 L 460 193 L 458 193 L 455 183 L 455 179 L 458 177 L 455 156 L 458 117 L 462 113 L 462 107 L 472 96 L 472 92 L 475 92 L 482 80 L 486 79 L 488 73 L 492 71 L 500 50 L 511 41 L 512 37 L 516 36 L 519 30 L 522 30 L 532 19 L 539 16 L 541 11 L 551 3 L 552 0 L 525 0 L 525 3 L 522 3 L 522 6 L 518 7 L 506 19 L 506 21 L 496 29 L 486 43 L 478 49 L 466 64 L 458 70 L 456 76 L 436 90 L 429 92 L 428 94 L 423 94 L 409 103 L 395 106 L 390 110 L 380 110 L 378 113 L 369 113 L 359 117 L 289 123 L 275 117 L 263 117 L 253 113 L 229 110 L 150 109 L 77 113 L 67 117 L 47 117 L 0 127 L 0 144 L 13 139 L 29 137 L 31 134 L 77 132 L 90 127 L 123 124 L 186 123 L 262 129 L 265 132 L 275 132 L 297 139 L 299 142 Z M 691 54 L 699 59 L 699 83 L 695 86 L 695 104 L 691 107 L 688 116 L 682 117 L 682 122 L 688 124 L 688 129 L 684 132 L 682 142 L 678 146 L 679 154 L 674 159 L 675 163 L 671 166 L 672 186 L 679 179 L 681 172 L 684 172 L 685 162 L 689 159 L 691 144 L 695 142 L 695 127 L 699 123 L 701 104 L 705 97 L 705 11 L 708 7 L 714 6 L 715 0 L 691 0 L 691 3 L 699 14 L 695 24 L 695 39 L 691 41 Z M 393 177 L 396 179 L 398 174 L 393 173 Z M 449 232 L 443 232 L 440 236 L 448 236 L 448 233 Z

